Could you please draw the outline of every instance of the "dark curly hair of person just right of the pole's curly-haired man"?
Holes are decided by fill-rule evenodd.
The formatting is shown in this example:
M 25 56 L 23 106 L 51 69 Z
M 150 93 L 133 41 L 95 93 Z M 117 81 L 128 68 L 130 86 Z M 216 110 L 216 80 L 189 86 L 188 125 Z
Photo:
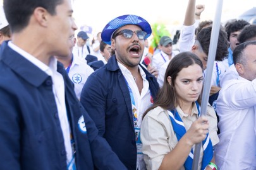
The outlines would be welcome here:
M 228 35 L 228 40 L 229 40 L 231 33 L 235 32 L 235 31 L 240 31 L 247 25 L 250 25 L 250 23 L 248 23 L 245 20 L 232 20 L 232 21 L 226 23 L 225 30 Z

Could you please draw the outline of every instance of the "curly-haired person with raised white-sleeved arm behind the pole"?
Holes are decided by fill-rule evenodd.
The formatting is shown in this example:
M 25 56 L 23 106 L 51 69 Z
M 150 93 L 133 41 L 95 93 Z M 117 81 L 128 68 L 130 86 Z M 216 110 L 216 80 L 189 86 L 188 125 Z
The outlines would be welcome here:
M 204 11 L 204 5 L 195 5 L 195 0 L 188 1 L 186 8 L 185 20 L 183 27 L 181 28 L 181 34 L 179 38 L 180 52 L 193 52 L 203 62 L 204 69 L 207 67 L 210 35 L 211 35 L 211 21 L 203 21 L 199 24 L 200 14 Z M 198 27 L 197 27 L 198 26 Z M 197 35 L 195 30 L 197 28 Z M 197 37 L 197 38 L 195 38 Z M 219 31 L 219 40 L 217 44 L 216 61 L 223 60 L 228 55 L 228 40 L 226 32 L 222 29 Z M 157 82 L 161 87 L 164 82 L 164 74 L 168 63 L 162 65 L 159 69 L 159 76 Z M 219 88 L 212 90 L 211 93 L 217 93 Z

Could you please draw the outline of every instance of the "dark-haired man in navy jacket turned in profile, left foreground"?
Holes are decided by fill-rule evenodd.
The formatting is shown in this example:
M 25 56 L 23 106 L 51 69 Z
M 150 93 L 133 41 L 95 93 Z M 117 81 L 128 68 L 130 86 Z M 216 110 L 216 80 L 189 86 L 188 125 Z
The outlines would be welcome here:
M 63 65 L 69 0 L 8 0 L 0 49 L 0 169 L 126 169 L 76 98 Z

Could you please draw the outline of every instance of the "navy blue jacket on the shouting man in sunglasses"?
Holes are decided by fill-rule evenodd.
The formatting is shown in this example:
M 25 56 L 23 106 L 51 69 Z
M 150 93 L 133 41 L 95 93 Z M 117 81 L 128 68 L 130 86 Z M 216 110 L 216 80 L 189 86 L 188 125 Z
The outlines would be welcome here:
M 159 85 L 144 67 L 153 98 Z M 81 103 L 104 137 L 128 169 L 136 169 L 137 147 L 130 93 L 115 55 L 92 73 L 83 86 Z

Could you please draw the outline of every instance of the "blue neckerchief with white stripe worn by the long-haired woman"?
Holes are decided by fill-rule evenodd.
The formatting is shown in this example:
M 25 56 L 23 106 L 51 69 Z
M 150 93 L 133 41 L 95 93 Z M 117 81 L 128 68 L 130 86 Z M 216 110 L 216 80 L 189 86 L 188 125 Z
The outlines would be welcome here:
M 198 116 L 200 115 L 200 106 L 195 102 L 197 105 L 198 110 Z M 169 117 L 171 119 L 171 123 L 173 125 L 173 130 L 176 133 L 176 137 L 178 141 L 185 135 L 186 129 L 184 126 L 184 123 L 182 122 L 180 115 L 177 110 L 171 110 L 171 114 L 169 113 Z M 212 160 L 213 157 L 213 149 L 212 149 L 212 142 L 210 141 L 209 133 L 207 133 L 207 136 L 205 140 L 203 140 L 203 149 L 204 149 L 204 156 L 202 159 L 202 167 L 201 169 L 205 169 L 205 167 L 209 164 L 209 162 Z M 186 170 L 192 169 L 193 164 L 193 149 L 191 149 L 190 154 L 188 155 L 188 158 L 186 159 L 184 163 L 184 167 Z

